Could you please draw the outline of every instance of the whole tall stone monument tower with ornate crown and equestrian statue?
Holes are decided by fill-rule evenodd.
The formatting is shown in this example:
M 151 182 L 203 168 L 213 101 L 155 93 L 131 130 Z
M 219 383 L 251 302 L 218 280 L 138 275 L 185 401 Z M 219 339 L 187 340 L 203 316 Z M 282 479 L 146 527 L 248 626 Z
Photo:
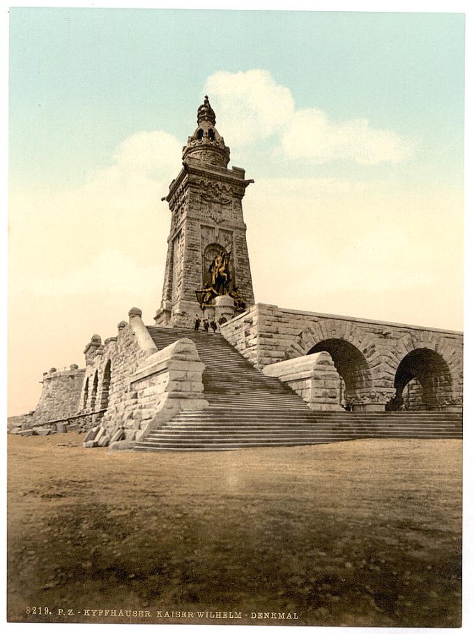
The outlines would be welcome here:
M 254 304 L 242 198 L 252 180 L 231 168 L 208 97 L 169 186 L 171 231 L 156 325 L 191 326 L 194 317 L 229 318 Z

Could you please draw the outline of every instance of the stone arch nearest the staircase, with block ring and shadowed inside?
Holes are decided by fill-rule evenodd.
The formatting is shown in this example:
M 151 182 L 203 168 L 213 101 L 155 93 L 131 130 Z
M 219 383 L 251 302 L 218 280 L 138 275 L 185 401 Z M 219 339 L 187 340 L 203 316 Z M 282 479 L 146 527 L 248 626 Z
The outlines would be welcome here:
M 376 338 L 353 321 L 321 318 L 308 323 L 285 352 L 286 359 L 328 352 L 346 383 L 346 401 L 355 408 L 381 409 L 390 397 L 378 381 L 380 351 Z

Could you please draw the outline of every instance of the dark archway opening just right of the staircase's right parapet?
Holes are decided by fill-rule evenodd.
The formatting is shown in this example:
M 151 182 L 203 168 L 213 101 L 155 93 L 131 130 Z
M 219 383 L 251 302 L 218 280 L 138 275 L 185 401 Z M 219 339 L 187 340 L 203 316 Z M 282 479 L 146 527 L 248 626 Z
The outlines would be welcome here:
M 355 408 L 367 402 L 373 390 L 372 374 L 365 356 L 345 339 L 325 339 L 313 346 L 307 355 L 326 352 L 338 375 L 338 399 L 344 408 Z

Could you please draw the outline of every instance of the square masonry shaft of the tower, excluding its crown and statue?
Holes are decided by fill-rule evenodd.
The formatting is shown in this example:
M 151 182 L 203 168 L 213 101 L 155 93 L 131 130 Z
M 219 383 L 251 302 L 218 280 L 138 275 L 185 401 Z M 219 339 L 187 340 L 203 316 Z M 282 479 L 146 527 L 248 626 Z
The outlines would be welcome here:
M 187 161 L 167 196 L 171 210 L 165 281 L 157 325 L 192 327 L 201 313 L 196 290 L 204 288 L 210 262 L 206 249 L 219 245 L 231 251 L 232 284 L 253 304 L 254 293 L 245 238 L 242 198 L 245 170 Z

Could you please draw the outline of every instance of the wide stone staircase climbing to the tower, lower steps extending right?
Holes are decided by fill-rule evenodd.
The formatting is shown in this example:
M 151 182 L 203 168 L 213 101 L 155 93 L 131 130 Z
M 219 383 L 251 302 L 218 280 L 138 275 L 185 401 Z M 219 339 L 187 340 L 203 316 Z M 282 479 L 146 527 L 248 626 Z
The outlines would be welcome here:
M 181 411 L 135 444 L 139 451 L 234 450 L 309 445 L 355 438 L 461 438 L 462 416 L 442 412 L 346 413 L 310 410 L 291 388 L 265 376 L 221 334 L 148 327 L 161 350 L 194 341 L 201 361 L 204 411 Z

